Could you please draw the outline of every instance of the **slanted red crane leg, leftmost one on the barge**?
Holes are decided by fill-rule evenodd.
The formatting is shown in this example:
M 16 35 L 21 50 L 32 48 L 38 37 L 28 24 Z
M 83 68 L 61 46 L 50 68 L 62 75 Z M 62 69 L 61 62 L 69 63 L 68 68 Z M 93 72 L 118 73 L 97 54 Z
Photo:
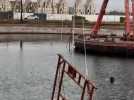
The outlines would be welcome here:
M 99 16 L 97 18 L 97 22 L 96 22 L 96 24 L 95 24 L 95 26 L 93 27 L 93 30 L 92 30 L 93 35 L 96 35 L 98 33 L 99 29 L 100 29 L 100 26 L 101 26 L 102 19 L 103 19 L 103 16 L 105 14 L 105 11 L 106 11 L 108 1 L 109 0 L 104 0 L 103 1 L 103 4 L 101 6 L 101 11 L 100 11 Z

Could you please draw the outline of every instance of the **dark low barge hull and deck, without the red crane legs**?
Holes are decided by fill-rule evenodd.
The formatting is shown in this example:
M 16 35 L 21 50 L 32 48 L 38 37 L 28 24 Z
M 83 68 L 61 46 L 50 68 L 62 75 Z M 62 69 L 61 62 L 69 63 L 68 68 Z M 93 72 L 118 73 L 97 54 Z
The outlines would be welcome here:
M 75 51 L 108 55 L 108 56 L 134 56 L 134 42 L 123 41 L 119 38 L 90 38 L 84 41 L 82 38 L 75 39 Z

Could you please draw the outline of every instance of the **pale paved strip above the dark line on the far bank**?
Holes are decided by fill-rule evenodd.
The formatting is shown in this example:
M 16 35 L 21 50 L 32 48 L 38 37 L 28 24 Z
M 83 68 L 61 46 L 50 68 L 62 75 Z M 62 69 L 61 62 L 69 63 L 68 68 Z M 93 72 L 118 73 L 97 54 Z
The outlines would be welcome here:
M 0 26 L 0 33 L 53 33 L 72 34 L 74 30 L 77 34 L 82 34 L 82 28 L 57 28 L 57 27 L 32 27 L 32 26 Z M 85 33 L 89 33 L 89 29 Z

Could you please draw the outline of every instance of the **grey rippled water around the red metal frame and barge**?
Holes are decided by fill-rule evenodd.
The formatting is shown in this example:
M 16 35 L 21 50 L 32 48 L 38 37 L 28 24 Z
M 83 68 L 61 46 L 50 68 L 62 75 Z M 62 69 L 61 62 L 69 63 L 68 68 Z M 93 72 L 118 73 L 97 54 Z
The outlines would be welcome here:
M 69 52 L 66 42 L 27 42 L 23 46 L 21 50 L 17 42 L 0 43 L 0 100 L 50 100 L 57 53 L 85 74 L 84 55 Z M 88 55 L 87 65 L 88 78 L 98 88 L 95 100 L 134 100 L 133 59 Z M 111 76 L 115 77 L 114 84 L 110 83 Z M 66 86 L 67 91 L 73 87 L 68 82 Z M 72 98 L 79 93 L 70 92 Z

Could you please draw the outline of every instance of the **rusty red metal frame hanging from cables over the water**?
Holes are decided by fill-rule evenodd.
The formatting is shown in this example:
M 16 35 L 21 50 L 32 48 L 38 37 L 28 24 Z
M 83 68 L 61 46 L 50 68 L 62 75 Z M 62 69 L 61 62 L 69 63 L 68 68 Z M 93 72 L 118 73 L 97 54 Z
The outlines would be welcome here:
M 96 89 L 95 86 L 88 79 L 86 79 L 82 74 L 80 74 L 61 55 L 58 56 L 59 59 L 57 64 L 57 70 L 56 70 L 51 100 L 67 100 L 66 97 L 64 97 L 64 95 L 62 95 L 61 93 L 63 78 L 65 74 L 68 75 L 69 78 L 73 80 L 82 89 L 80 100 L 84 100 L 85 94 L 88 94 L 88 100 L 92 100 L 94 90 Z

